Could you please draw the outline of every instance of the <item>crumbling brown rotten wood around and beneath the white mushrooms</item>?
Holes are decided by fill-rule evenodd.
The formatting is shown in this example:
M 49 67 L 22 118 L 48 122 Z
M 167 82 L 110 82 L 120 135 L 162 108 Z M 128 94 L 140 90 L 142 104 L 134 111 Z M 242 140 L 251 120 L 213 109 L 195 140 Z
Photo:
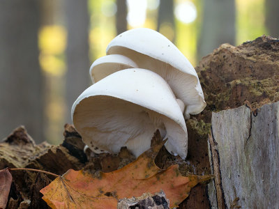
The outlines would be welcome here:
M 223 44 L 202 58 L 196 70 L 207 103 L 201 114 L 186 121 L 188 157 L 181 160 L 163 147 L 156 157 L 158 167 L 179 164 L 183 175 L 211 173 L 208 137 L 212 111 L 233 109 L 246 104 L 251 111 L 279 100 L 279 40 L 262 36 L 234 47 Z M 61 127 L 62 132 L 62 127 Z M 0 169 L 30 168 L 63 175 L 68 169 L 110 172 L 135 160 L 126 148 L 119 155 L 84 153 L 84 144 L 73 125 L 66 124 L 59 146 L 36 145 L 24 127 L 17 127 L 0 142 Z M 54 178 L 44 173 L 12 171 L 13 183 L 8 208 L 48 208 L 40 189 Z M 197 185 L 179 208 L 209 208 L 206 185 Z

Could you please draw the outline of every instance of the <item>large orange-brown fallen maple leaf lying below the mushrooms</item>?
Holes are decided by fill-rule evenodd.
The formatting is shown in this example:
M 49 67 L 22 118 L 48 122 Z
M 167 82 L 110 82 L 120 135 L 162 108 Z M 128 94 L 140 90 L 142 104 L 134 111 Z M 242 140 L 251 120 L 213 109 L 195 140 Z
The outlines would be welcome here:
M 211 176 L 182 176 L 177 164 L 165 170 L 158 168 L 154 158 L 163 144 L 156 144 L 122 169 L 100 173 L 100 178 L 70 169 L 40 192 L 52 208 L 105 209 L 116 208 L 117 201 L 125 197 L 163 190 L 173 208 L 186 199 L 192 187 Z

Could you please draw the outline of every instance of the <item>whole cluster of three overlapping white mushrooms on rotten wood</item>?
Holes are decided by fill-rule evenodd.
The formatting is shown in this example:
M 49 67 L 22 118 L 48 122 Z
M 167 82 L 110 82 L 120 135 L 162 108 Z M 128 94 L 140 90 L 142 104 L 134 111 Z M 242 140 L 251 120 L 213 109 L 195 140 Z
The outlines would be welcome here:
M 169 153 L 186 158 L 185 118 L 199 114 L 206 102 L 195 68 L 171 41 L 151 29 L 121 33 L 107 56 L 93 62 L 90 75 L 93 85 L 71 114 L 94 153 L 119 153 L 126 146 L 138 157 L 159 130 Z

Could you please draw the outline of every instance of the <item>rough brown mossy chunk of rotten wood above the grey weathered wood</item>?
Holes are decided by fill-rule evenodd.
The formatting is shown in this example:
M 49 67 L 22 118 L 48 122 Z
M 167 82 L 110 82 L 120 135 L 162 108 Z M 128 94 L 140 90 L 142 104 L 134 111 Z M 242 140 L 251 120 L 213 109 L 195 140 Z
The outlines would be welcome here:
M 207 104 L 202 115 L 240 107 L 246 100 L 253 108 L 277 102 L 278 68 L 278 39 L 262 36 L 237 47 L 220 45 L 196 68 Z

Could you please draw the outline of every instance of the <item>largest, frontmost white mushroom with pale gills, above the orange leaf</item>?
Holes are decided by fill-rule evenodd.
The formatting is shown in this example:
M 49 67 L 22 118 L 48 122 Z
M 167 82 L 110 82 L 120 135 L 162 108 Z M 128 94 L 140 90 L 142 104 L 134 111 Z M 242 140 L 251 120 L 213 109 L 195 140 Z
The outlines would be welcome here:
M 170 153 L 185 158 L 188 137 L 179 104 L 165 80 L 150 70 L 121 70 L 87 88 L 72 107 L 72 119 L 92 150 L 119 153 L 127 146 L 136 157 L 151 146 L 157 129 Z

